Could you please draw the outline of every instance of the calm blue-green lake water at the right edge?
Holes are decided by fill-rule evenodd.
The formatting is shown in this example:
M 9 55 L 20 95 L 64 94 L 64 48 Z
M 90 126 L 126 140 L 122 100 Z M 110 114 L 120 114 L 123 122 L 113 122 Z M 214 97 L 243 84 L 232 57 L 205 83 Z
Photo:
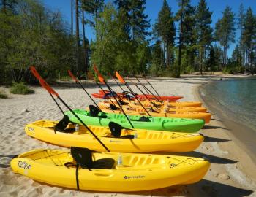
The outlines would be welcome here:
M 201 91 L 256 131 L 256 79 L 222 80 L 206 85 Z

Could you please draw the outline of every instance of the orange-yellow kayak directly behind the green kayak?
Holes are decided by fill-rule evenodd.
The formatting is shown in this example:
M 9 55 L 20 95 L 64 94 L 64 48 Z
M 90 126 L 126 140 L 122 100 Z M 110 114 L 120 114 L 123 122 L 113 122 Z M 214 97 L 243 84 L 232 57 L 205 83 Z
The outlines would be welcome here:
M 110 104 L 105 102 L 99 102 L 98 104 L 99 108 L 102 109 L 103 112 L 107 113 L 116 113 L 116 114 L 122 114 L 121 109 L 111 109 Z M 124 112 L 127 115 L 148 115 L 145 110 L 142 107 L 130 107 L 122 106 L 124 109 Z M 205 123 L 209 123 L 211 120 L 211 114 L 210 113 L 203 113 L 203 112 L 179 112 L 179 111 L 170 111 L 166 109 L 162 110 L 156 110 L 151 111 L 148 109 L 148 112 L 151 116 L 155 117 L 177 117 L 177 118 L 192 118 L 192 119 L 203 119 Z

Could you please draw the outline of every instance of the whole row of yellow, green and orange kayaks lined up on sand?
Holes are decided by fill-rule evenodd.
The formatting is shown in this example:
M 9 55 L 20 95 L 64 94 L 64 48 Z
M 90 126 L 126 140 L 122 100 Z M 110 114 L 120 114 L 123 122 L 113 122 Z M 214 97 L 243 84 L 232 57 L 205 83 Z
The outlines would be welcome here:
M 64 102 L 34 67 L 31 67 L 31 72 L 43 88 Z M 28 136 L 70 147 L 70 150 L 24 152 L 12 159 L 12 170 L 64 188 L 116 192 L 186 185 L 203 179 L 210 166 L 205 159 L 151 152 L 189 152 L 199 147 L 203 135 L 195 132 L 209 120 L 206 121 L 206 117 L 178 118 L 169 114 L 208 114 L 206 108 L 199 102 L 195 102 L 195 106 L 187 102 L 186 106 L 171 99 L 160 103 L 155 101 L 158 105 L 151 106 L 141 99 L 140 102 L 152 114 L 148 116 L 140 113 L 143 110 L 135 100 L 124 98 L 116 106 L 118 104 L 123 110 L 135 108 L 138 112 L 127 109 L 124 115 L 121 109 L 108 109 L 119 101 L 107 98 L 108 101 L 98 104 L 99 108 L 92 105 L 87 110 L 69 108 L 60 121 L 37 120 L 27 124 L 25 131 Z M 153 113 L 161 108 L 165 108 L 162 112 L 165 115 L 154 116 Z M 176 109 L 173 110 L 175 113 L 171 113 L 172 109 Z

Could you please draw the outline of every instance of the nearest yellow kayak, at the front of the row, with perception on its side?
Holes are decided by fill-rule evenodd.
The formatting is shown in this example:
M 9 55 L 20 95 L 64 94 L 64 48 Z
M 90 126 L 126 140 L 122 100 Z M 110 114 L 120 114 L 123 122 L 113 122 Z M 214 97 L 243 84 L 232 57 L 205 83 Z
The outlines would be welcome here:
M 49 185 L 80 190 L 128 192 L 187 185 L 203 179 L 203 158 L 138 153 L 91 152 L 85 148 L 31 150 L 12 158 L 11 167 Z

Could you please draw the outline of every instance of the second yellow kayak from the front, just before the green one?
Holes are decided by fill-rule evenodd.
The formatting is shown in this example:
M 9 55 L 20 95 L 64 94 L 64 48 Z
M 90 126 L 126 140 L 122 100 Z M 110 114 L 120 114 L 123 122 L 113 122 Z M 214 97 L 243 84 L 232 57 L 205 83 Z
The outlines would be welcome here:
M 26 134 L 36 139 L 63 147 L 88 147 L 91 150 L 105 152 L 99 142 L 82 125 L 75 131 L 75 125 L 69 123 L 64 131 L 55 131 L 58 122 L 38 120 L 26 125 Z M 111 152 L 187 152 L 195 150 L 203 136 L 170 131 L 152 131 L 143 129 L 121 129 L 112 134 L 110 128 L 89 126 Z M 118 128 L 116 128 L 118 130 Z

